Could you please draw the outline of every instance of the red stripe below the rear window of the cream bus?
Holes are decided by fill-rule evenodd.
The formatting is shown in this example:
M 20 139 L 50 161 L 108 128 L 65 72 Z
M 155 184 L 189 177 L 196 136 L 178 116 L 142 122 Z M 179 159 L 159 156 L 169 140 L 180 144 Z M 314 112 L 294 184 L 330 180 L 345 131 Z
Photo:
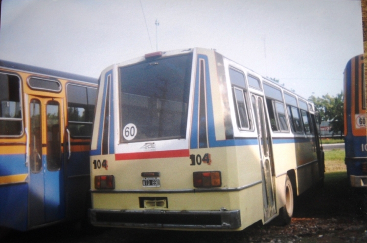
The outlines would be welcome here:
M 188 149 L 115 154 L 116 161 L 189 157 Z

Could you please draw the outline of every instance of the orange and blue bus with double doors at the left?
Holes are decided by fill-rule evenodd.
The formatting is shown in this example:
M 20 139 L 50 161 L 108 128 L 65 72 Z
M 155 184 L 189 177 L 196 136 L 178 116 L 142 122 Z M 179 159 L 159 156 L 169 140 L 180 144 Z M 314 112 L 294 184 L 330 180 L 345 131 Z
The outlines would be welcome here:
M 97 80 L 0 61 L 0 226 L 85 217 Z

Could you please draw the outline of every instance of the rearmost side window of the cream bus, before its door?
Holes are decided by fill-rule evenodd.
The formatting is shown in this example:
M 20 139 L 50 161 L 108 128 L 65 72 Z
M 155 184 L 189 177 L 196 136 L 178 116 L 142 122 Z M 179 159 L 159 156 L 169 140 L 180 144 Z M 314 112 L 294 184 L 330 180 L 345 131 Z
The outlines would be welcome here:
M 229 68 L 229 79 L 232 83 L 237 126 L 241 130 L 250 130 L 251 124 L 248 113 L 245 75 L 242 72 Z

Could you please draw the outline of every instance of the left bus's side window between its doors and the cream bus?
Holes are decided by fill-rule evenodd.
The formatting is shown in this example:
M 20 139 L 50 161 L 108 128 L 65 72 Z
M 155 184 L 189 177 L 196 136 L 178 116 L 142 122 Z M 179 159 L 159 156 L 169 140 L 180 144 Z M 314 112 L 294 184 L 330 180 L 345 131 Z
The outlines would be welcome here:
M 68 128 L 71 136 L 91 136 L 96 94 L 96 88 L 73 84 L 67 86 Z

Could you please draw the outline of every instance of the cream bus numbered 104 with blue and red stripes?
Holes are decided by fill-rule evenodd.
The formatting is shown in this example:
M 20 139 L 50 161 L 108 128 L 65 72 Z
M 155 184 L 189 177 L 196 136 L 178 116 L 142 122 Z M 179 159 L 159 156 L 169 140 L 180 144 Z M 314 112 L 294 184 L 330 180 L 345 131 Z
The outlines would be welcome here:
M 215 50 L 155 52 L 101 73 L 95 226 L 241 230 L 291 222 L 323 180 L 315 107 Z

